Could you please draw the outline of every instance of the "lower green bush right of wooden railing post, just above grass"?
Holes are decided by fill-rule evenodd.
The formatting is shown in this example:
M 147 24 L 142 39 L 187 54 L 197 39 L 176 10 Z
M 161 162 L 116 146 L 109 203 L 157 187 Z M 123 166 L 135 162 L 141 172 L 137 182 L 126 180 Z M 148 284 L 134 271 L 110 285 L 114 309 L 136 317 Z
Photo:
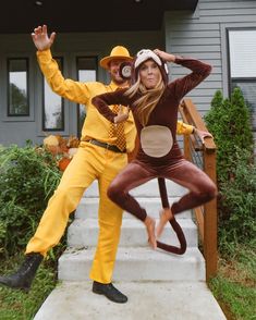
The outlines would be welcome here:
M 253 243 L 256 234 L 256 165 L 237 156 L 234 177 L 220 184 L 219 235 L 227 251 L 232 244 Z M 244 159 L 245 158 L 245 159 Z

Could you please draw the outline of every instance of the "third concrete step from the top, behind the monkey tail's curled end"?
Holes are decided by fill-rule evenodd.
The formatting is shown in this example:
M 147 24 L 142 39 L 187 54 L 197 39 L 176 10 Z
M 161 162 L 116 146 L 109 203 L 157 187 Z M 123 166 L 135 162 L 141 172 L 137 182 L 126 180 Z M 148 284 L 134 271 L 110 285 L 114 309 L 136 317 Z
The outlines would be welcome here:
M 178 219 L 187 247 L 197 247 L 197 227 L 191 219 Z M 170 225 L 170 224 L 169 224 Z M 166 226 L 160 241 L 163 243 L 179 245 L 176 235 L 171 226 Z M 96 247 L 98 242 L 97 219 L 75 219 L 68 231 L 68 243 L 71 247 Z M 123 219 L 120 247 L 148 246 L 145 225 L 137 219 Z

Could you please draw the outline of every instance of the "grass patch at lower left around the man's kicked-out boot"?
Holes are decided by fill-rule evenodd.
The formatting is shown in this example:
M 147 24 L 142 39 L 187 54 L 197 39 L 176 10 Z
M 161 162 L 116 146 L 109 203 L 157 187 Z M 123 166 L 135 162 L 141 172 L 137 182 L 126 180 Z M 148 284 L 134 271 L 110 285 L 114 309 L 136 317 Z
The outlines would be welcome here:
M 1 274 L 8 274 L 16 270 L 23 259 L 24 256 L 21 254 L 17 257 L 1 261 Z M 56 286 L 56 283 L 54 267 L 49 261 L 46 261 L 38 269 L 28 293 L 0 286 L 0 319 L 32 320 L 44 300 Z

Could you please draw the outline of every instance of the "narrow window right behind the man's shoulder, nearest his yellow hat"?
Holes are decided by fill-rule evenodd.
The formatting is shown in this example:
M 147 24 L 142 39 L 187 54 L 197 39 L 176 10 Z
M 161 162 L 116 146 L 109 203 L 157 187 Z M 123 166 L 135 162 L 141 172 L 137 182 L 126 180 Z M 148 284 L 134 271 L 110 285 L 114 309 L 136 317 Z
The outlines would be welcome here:
M 97 59 L 95 57 L 80 57 L 76 61 L 77 75 L 80 82 L 95 82 L 97 76 Z M 81 131 L 85 121 L 85 106 L 77 107 L 77 135 L 81 136 Z

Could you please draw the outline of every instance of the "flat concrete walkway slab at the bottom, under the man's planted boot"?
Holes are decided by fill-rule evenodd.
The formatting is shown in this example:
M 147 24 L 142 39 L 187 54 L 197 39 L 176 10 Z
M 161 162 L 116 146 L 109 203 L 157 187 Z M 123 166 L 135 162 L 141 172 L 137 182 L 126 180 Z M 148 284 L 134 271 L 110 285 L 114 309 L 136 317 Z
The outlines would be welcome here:
M 121 282 L 129 296 L 114 304 L 92 292 L 92 282 L 60 283 L 34 320 L 224 320 L 218 303 L 204 282 Z

